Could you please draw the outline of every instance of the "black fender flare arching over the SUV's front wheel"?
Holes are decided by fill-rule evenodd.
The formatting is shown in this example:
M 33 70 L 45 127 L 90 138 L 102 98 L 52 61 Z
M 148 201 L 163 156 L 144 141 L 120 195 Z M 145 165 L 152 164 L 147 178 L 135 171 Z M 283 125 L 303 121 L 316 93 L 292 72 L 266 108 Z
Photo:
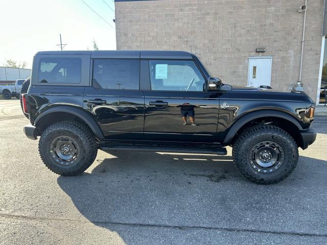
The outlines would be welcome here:
M 292 124 L 294 124 L 298 130 L 302 130 L 302 127 L 300 123 L 291 115 L 287 114 L 286 112 L 281 111 L 274 111 L 274 110 L 261 110 L 261 111 L 254 111 L 250 112 L 242 117 L 240 117 L 238 120 L 236 120 L 230 129 L 228 130 L 228 133 L 225 136 L 225 139 L 223 141 L 224 144 L 228 145 L 230 144 L 233 137 L 237 134 L 237 132 L 245 125 L 247 122 L 250 122 L 254 119 L 260 118 L 260 117 L 279 117 L 286 119 Z

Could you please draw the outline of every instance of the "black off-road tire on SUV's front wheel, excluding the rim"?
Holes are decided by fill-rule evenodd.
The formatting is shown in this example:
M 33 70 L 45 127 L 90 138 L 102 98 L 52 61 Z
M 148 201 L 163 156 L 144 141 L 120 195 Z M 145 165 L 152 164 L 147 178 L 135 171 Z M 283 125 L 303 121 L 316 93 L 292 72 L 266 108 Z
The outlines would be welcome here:
M 270 141 L 281 146 L 284 160 L 271 173 L 258 171 L 251 165 L 251 149 L 262 141 Z M 293 137 L 273 125 L 253 126 L 244 129 L 232 144 L 232 157 L 236 167 L 248 180 L 258 184 L 272 184 L 288 177 L 297 165 L 298 146 Z

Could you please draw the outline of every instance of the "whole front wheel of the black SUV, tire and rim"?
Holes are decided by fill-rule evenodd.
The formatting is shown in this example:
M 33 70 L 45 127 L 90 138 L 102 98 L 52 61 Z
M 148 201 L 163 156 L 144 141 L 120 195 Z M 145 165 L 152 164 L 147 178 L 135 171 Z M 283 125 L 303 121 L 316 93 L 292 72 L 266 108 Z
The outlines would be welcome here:
M 260 184 L 277 183 L 289 176 L 298 161 L 297 144 L 273 125 L 253 126 L 239 134 L 232 148 L 241 174 Z

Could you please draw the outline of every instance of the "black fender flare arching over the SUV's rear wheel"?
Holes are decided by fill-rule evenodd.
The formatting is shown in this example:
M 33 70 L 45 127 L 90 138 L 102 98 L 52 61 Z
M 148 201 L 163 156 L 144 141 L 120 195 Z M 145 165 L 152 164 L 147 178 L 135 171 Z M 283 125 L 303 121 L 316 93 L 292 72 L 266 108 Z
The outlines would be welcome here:
M 43 111 L 34 121 L 34 125 L 36 126 L 37 123 L 46 115 L 49 115 L 51 113 L 55 112 L 65 112 L 69 114 L 73 114 L 79 118 L 81 118 L 83 121 L 86 122 L 88 127 L 91 129 L 91 131 L 95 134 L 95 136 L 98 139 L 104 139 L 104 135 L 100 129 L 100 126 L 97 124 L 96 120 L 92 117 L 92 115 L 85 111 L 85 109 L 74 107 L 74 106 L 66 106 L 66 105 L 58 105 L 51 107 L 45 111 Z

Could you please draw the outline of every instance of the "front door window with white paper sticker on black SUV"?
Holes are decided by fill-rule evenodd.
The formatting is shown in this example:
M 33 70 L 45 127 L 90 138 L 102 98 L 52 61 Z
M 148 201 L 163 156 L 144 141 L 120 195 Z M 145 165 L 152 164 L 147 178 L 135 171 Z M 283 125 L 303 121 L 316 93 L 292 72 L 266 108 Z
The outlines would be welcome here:
M 205 80 L 193 61 L 150 60 L 152 90 L 203 91 Z

